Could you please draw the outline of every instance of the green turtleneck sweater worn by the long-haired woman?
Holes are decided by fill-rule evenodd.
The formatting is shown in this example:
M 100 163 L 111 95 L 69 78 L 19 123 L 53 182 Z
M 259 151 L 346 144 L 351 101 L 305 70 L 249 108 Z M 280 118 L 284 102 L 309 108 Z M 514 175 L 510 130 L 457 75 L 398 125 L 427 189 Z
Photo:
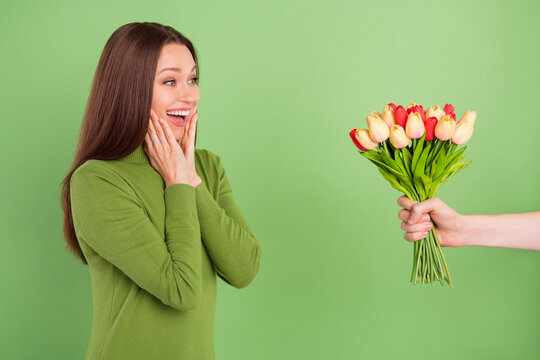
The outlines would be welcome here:
M 195 151 L 197 187 L 165 188 L 141 144 L 71 178 L 75 233 L 92 281 L 87 360 L 214 359 L 216 274 L 237 288 L 261 248 L 220 158 Z

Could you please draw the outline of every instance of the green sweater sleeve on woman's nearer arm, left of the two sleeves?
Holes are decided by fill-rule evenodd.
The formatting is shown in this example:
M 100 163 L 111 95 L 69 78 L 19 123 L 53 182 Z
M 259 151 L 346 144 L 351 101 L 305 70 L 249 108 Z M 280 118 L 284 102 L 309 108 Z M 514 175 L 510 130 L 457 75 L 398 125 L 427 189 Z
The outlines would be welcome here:
M 165 188 L 165 239 L 131 187 L 112 172 L 81 166 L 70 195 L 79 241 L 164 304 L 177 310 L 198 305 L 202 249 L 194 187 Z

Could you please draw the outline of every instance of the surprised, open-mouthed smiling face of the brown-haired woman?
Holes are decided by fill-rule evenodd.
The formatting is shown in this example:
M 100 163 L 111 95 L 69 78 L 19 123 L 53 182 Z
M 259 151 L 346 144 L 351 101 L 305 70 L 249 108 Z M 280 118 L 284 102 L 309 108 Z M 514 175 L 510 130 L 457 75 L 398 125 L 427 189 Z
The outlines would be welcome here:
M 169 125 L 180 142 L 188 119 L 197 111 L 199 87 L 195 61 L 185 45 L 167 44 L 159 55 L 152 109 Z

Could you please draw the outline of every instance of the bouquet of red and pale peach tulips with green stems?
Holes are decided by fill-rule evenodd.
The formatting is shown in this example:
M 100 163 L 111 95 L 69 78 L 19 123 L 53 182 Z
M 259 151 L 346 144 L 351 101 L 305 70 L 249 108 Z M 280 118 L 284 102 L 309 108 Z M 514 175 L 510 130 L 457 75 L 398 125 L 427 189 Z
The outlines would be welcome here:
M 472 133 L 476 112 L 467 110 L 456 123 L 451 104 L 444 109 L 421 105 L 388 104 L 382 114 L 374 111 L 366 117 L 368 129 L 352 129 L 350 136 L 359 152 L 377 165 L 381 175 L 393 188 L 409 199 L 423 201 L 471 162 L 463 162 L 466 143 Z M 414 243 L 411 282 L 433 283 L 452 278 L 435 233 Z

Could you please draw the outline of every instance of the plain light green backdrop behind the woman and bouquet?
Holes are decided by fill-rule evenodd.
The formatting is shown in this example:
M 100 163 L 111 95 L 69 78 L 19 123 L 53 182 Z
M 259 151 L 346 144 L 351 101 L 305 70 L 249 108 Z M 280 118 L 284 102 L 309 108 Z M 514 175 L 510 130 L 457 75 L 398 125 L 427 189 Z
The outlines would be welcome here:
M 540 208 L 535 1 L 3 1 L 0 358 L 82 359 L 88 268 L 59 184 L 106 40 L 171 25 L 201 66 L 198 146 L 222 157 L 263 247 L 219 284 L 218 359 L 538 359 L 540 252 L 445 249 L 455 288 L 409 284 L 399 194 L 348 137 L 390 101 L 477 111 L 462 213 Z

